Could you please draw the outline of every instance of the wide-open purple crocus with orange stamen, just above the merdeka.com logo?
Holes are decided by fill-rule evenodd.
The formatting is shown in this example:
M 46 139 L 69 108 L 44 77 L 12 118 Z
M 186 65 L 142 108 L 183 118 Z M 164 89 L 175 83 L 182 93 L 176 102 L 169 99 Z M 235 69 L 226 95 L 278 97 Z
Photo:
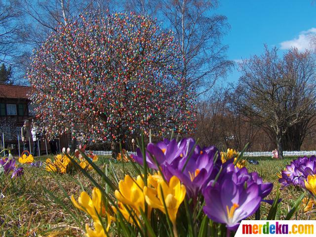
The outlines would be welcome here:
M 256 183 L 245 187 L 232 182 L 232 178 L 232 173 L 227 173 L 222 185 L 203 190 L 203 211 L 211 220 L 226 224 L 229 230 L 237 230 L 240 221 L 259 208 L 261 196 Z

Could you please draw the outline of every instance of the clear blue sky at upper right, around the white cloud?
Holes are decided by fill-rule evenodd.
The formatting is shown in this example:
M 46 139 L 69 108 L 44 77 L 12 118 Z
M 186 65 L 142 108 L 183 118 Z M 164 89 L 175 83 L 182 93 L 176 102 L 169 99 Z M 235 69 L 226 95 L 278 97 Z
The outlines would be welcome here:
M 308 35 L 316 34 L 315 0 L 220 0 L 216 13 L 231 25 L 223 39 L 231 60 L 261 54 L 264 44 L 280 53 L 291 46 L 303 50 L 310 47 Z M 234 70 L 227 81 L 237 82 L 239 75 Z

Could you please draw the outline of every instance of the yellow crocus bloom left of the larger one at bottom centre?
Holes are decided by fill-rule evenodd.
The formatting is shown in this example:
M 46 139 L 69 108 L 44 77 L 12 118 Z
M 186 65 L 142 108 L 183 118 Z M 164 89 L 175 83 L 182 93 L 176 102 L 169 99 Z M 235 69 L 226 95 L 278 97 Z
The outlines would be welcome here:
M 137 211 L 140 208 L 143 211 L 145 210 L 144 181 L 142 177 L 137 176 L 136 180 L 133 180 L 129 175 L 126 175 L 124 180 L 119 181 L 118 188 L 119 191 L 115 190 L 118 201 L 133 207 Z

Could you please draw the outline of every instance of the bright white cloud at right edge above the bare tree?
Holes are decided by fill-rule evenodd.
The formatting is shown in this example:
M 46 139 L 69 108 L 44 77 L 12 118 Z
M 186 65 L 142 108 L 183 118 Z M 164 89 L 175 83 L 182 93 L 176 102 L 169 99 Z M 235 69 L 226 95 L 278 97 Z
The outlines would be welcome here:
M 281 42 L 281 49 L 290 49 L 291 47 L 297 47 L 300 51 L 312 49 L 311 38 L 313 36 L 316 36 L 316 28 L 302 31 L 297 38 Z

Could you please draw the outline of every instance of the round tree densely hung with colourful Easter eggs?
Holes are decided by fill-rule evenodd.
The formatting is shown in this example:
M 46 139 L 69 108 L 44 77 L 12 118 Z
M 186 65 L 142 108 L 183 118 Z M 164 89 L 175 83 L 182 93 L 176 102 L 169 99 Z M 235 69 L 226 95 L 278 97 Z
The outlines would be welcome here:
M 30 98 L 48 137 L 72 130 L 117 150 L 141 130 L 190 133 L 193 91 L 172 32 L 133 13 L 95 15 L 59 26 L 34 51 Z

